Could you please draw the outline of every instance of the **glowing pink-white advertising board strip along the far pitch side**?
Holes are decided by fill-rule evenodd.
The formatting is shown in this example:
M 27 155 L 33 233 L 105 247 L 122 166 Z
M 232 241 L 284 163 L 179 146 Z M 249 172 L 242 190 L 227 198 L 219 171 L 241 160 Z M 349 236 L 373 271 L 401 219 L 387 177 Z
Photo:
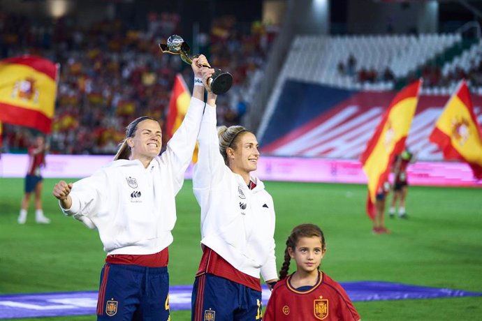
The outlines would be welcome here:
M 43 168 L 45 178 L 80 179 L 112 160 L 113 156 L 48 155 Z M 24 177 L 27 155 L 2 154 L 0 177 Z M 192 165 L 186 178 L 192 177 Z M 261 157 L 255 175 L 265 181 L 302 181 L 323 183 L 366 184 L 367 178 L 358 160 L 328 158 Z M 422 186 L 482 187 L 482 180 L 472 176 L 465 163 L 416 162 L 408 167 L 409 183 Z

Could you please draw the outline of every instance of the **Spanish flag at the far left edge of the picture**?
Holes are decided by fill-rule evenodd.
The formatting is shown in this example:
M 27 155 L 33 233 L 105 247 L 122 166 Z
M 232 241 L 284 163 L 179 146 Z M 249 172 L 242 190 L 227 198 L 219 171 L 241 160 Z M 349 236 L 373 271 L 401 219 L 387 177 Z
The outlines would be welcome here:
M 0 121 L 50 133 L 57 71 L 52 61 L 35 56 L 1 60 Z

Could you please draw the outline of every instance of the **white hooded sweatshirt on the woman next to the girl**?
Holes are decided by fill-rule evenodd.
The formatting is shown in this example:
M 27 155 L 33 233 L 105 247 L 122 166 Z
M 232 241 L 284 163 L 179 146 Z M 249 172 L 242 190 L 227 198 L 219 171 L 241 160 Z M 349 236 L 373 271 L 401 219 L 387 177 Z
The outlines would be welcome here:
M 201 243 L 233 267 L 265 281 L 278 278 L 275 259 L 275 208 L 264 184 L 251 191 L 219 153 L 216 110 L 206 105 L 198 137 L 193 191 L 201 208 Z

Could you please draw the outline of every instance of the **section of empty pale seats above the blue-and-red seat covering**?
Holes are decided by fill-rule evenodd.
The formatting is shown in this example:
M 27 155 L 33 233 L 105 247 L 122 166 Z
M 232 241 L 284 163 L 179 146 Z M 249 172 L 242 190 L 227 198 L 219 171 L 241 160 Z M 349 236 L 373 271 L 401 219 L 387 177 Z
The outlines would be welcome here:
M 282 77 L 346 89 L 392 90 L 395 78 L 415 73 L 461 41 L 456 33 L 297 36 Z

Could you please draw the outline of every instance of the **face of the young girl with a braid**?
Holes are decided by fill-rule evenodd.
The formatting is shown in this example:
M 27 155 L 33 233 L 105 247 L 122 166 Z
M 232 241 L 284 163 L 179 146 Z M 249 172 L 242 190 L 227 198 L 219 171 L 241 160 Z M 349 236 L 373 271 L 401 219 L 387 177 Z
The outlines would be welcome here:
M 297 271 L 305 274 L 318 274 L 325 252 L 320 237 L 300 237 L 295 248 L 288 248 L 289 255 L 296 262 Z

